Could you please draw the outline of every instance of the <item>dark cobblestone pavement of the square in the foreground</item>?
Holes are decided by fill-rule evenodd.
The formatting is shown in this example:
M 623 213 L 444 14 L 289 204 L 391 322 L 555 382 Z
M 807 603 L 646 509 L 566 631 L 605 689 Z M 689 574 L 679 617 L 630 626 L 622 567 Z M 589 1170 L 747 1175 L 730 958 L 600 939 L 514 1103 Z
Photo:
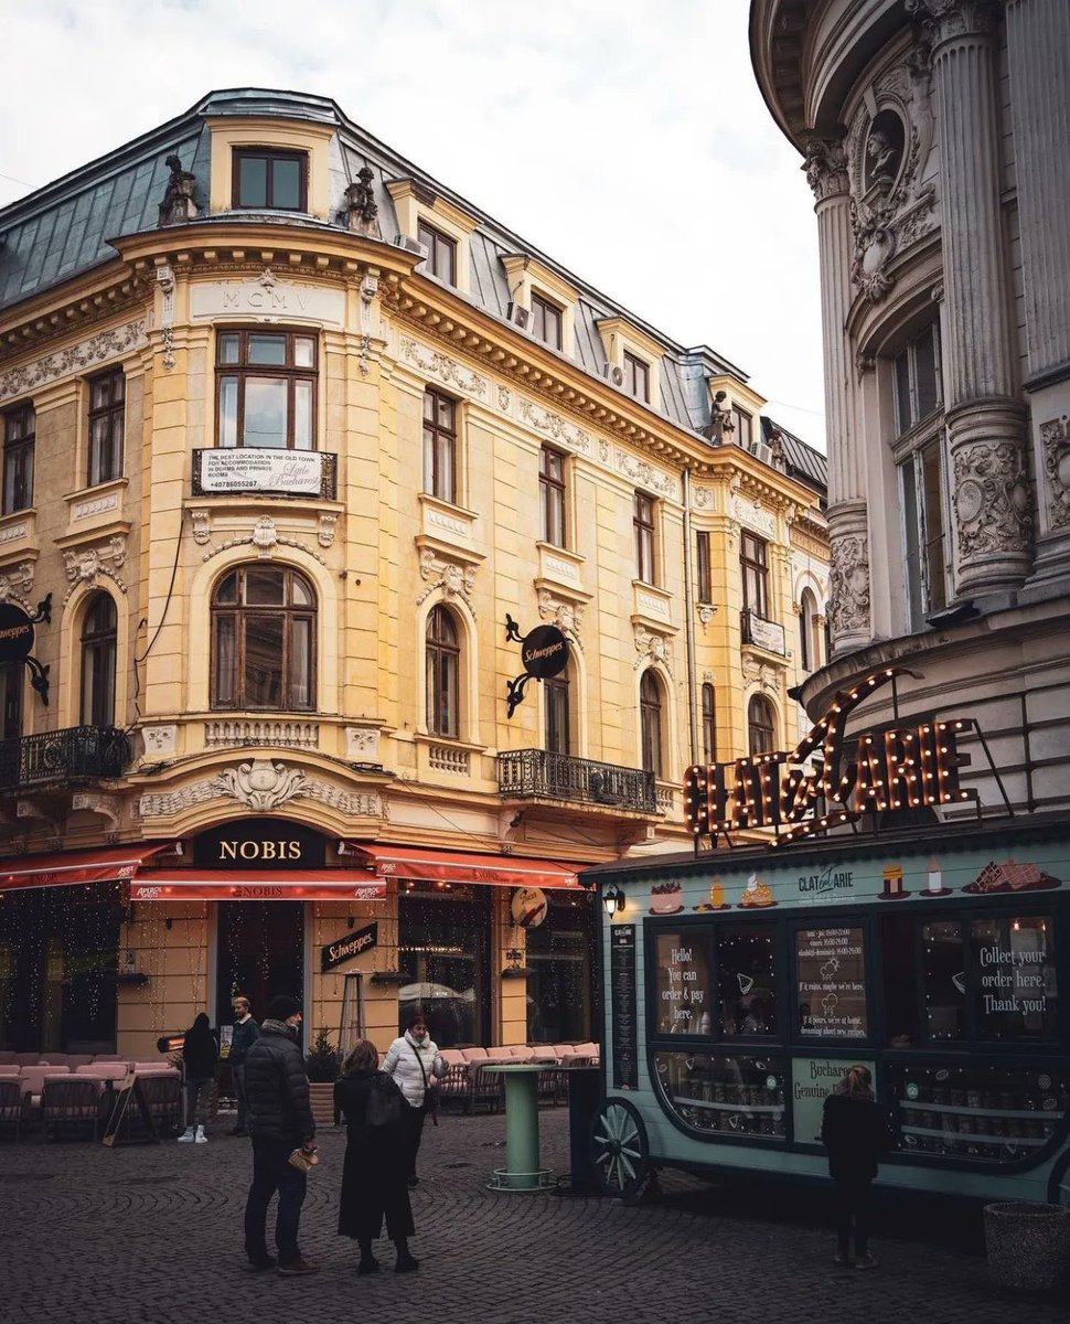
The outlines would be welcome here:
M 567 1194 L 501 1194 L 501 1116 L 428 1128 L 413 1193 L 418 1274 L 358 1278 L 335 1235 L 344 1133 L 320 1133 L 302 1251 L 315 1278 L 253 1274 L 242 1254 L 248 1141 L 215 1127 L 208 1145 L 53 1143 L 0 1147 L 0 1319 L 20 1324 L 232 1324 L 350 1320 L 395 1324 L 1066 1324 L 1063 1301 L 1014 1300 L 987 1282 L 976 1213 L 890 1210 L 871 1274 L 836 1268 L 828 1204 L 783 1186 L 726 1190 L 670 1176 L 663 1198 L 625 1206 Z M 543 1112 L 543 1160 L 567 1169 L 564 1110 Z M 269 1221 L 270 1234 L 270 1221 Z

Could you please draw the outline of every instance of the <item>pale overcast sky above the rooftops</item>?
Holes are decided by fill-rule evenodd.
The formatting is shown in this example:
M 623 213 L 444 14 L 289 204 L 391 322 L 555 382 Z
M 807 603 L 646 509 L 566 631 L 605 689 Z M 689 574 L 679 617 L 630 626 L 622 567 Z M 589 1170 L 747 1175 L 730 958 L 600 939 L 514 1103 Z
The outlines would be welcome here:
M 7 0 L 0 205 L 219 87 L 368 132 L 825 449 L 817 230 L 748 0 Z M 12 53 L 19 53 L 12 58 Z

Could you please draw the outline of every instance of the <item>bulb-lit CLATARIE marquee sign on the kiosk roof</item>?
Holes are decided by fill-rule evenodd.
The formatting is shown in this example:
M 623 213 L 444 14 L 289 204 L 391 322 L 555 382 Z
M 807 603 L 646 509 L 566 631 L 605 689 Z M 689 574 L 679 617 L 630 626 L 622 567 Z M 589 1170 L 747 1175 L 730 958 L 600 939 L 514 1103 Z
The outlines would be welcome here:
M 977 792 L 959 784 L 969 756 L 959 752 L 957 741 L 977 728 L 972 719 L 895 723 L 845 739 L 848 716 L 899 675 L 914 673 L 890 667 L 841 690 L 791 752 L 689 768 L 683 798 L 695 845 L 747 828 L 776 828 L 781 843 L 863 814 L 976 802 Z

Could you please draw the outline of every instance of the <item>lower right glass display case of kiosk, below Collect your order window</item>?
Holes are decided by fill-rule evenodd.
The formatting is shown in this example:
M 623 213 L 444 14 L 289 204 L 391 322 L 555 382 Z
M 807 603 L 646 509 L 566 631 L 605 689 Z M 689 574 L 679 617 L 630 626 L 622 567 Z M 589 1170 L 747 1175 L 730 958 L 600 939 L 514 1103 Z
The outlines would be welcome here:
M 895 1066 L 902 1152 L 1016 1164 L 1066 1124 L 1070 1072 L 1024 1066 Z

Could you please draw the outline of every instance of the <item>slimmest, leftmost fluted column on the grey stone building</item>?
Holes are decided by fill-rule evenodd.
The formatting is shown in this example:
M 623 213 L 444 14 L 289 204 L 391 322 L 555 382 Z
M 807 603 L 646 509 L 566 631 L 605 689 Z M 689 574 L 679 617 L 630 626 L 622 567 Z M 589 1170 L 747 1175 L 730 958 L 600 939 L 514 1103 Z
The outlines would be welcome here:
M 804 166 L 814 192 L 821 260 L 821 335 L 825 360 L 825 432 L 829 448 L 829 540 L 833 653 L 867 643 L 870 628 L 869 524 L 851 426 L 851 360 L 845 331 L 850 306 L 853 240 L 842 139 L 813 139 Z

